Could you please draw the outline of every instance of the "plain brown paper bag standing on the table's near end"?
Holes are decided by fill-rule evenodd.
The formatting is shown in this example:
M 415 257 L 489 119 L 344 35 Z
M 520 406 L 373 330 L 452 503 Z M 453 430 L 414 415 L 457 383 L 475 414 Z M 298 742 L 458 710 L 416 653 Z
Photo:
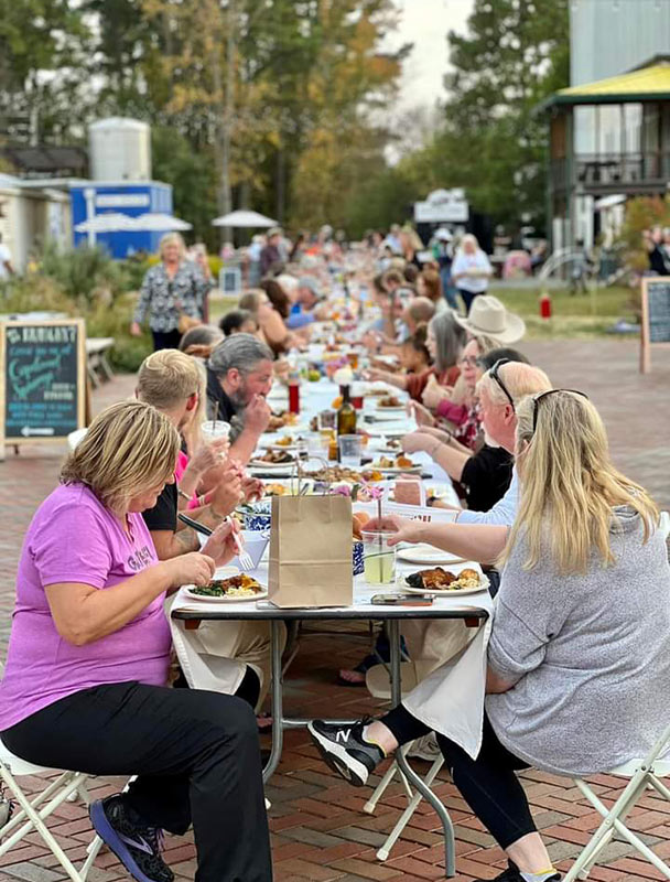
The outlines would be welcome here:
M 268 596 L 278 606 L 350 606 L 352 501 L 273 496 Z

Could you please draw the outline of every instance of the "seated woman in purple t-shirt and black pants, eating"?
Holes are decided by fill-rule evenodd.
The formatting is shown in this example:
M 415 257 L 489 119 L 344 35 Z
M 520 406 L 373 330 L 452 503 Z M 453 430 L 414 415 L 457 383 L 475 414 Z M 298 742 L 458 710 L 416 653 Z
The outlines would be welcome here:
M 221 525 L 203 553 L 158 561 L 141 512 L 174 481 L 179 435 L 140 401 L 112 405 L 66 461 L 29 527 L 17 581 L 0 732 L 18 756 L 91 775 L 137 775 L 90 806 L 139 882 L 172 882 L 160 830 L 193 824 L 198 880 L 271 880 L 253 711 L 169 689 L 166 593 L 206 584 L 235 556 Z M 238 831 L 246 835 L 240 837 Z

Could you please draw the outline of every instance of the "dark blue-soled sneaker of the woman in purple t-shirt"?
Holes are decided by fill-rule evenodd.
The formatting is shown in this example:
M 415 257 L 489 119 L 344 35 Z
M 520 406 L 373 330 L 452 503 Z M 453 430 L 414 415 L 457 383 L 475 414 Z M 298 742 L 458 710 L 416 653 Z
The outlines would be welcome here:
M 173 882 L 174 873 L 161 858 L 163 831 L 137 822 L 122 796 L 108 796 L 88 807 L 95 831 L 138 882 Z M 131 819 L 129 816 L 132 815 Z

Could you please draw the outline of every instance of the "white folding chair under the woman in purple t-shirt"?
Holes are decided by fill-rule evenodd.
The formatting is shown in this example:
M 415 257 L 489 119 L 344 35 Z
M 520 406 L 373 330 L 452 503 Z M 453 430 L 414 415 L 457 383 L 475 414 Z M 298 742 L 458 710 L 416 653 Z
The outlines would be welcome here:
M 36 796 L 28 796 L 17 781 L 26 775 L 43 775 L 60 772 L 55 781 L 51 781 L 47 786 Z M 61 867 L 65 870 L 73 882 L 85 882 L 88 871 L 94 864 L 95 859 L 102 846 L 101 839 L 95 837 L 87 848 L 86 862 L 80 870 L 77 870 L 61 846 L 56 842 L 53 835 L 44 824 L 47 818 L 62 803 L 76 798 L 79 795 L 88 803 L 86 781 L 89 776 L 82 772 L 66 772 L 63 770 L 47 768 L 45 766 L 28 763 L 15 756 L 0 740 L 0 778 L 8 796 L 18 803 L 19 810 L 14 811 L 8 824 L 0 829 L 0 857 L 6 854 L 11 848 L 20 842 L 29 832 L 35 830 L 42 837 L 45 846 L 56 858 Z

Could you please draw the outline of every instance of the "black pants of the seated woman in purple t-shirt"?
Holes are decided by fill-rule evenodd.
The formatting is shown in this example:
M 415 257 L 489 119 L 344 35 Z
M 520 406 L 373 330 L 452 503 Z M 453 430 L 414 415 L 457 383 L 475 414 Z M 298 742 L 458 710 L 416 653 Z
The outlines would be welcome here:
M 138 775 L 123 799 L 151 827 L 191 824 L 196 882 L 271 882 L 258 730 L 235 696 L 121 682 L 83 689 L 2 732 L 23 760 Z

